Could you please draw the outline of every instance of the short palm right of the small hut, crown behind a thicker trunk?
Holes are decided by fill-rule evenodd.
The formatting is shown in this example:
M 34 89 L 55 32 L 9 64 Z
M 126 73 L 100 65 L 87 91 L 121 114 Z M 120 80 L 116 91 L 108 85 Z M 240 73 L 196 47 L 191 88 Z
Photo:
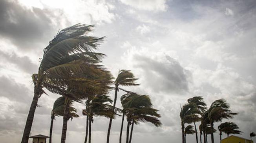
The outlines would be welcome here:
M 52 130 L 53 130 L 53 120 L 55 119 L 55 116 L 63 116 L 64 115 L 64 107 L 65 107 L 65 97 L 59 97 L 57 100 L 55 100 L 53 104 L 53 109 L 51 111 L 51 126 L 50 126 L 50 138 L 49 138 L 49 143 L 51 143 L 51 135 L 52 135 Z M 68 113 L 68 118 L 78 118 L 79 115 L 76 114 L 77 109 L 72 107 L 71 104 L 69 104 L 69 113 Z

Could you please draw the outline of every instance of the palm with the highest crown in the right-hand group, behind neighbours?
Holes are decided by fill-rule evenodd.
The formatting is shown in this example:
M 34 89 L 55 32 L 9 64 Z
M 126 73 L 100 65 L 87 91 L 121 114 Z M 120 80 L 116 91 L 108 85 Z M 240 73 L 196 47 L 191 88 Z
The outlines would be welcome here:
M 196 107 L 199 111 L 201 111 L 201 116 L 207 109 L 206 103 L 203 101 L 203 97 L 192 97 L 188 99 L 188 103 L 196 104 Z M 200 118 L 194 118 L 194 126 L 195 126 L 195 134 L 196 134 L 196 143 L 198 143 L 198 137 L 197 137 L 197 129 L 196 129 L 196 122 L 200 121 Z

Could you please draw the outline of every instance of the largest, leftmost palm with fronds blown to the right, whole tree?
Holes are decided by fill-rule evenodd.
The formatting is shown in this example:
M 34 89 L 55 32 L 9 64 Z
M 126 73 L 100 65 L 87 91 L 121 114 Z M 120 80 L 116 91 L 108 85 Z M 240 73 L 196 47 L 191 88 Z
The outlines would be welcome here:
M 73 84 L 76 84 L 74 79 L 66 75 L 77 75 L 82 68 L 80 63 L 83 63 L 84 59 L 99 60 L 104 56 L 104 54 L 94 52 L 103 37 L 88 36 L 92 28 L 93 25 L 77 24 L 63 29 L 44 49 L 38 73 L 32 75 L 35 86 L 34 97 L 27 115 L 22 143 L 28 142 L 38 98 L 45 93 L 43 88 L 48 86 L 52 90 L 63 90 L 66 89 L 67 82 L 73 81 Z M 83 85 L 78 82 L 77 87 L 83 89 Z

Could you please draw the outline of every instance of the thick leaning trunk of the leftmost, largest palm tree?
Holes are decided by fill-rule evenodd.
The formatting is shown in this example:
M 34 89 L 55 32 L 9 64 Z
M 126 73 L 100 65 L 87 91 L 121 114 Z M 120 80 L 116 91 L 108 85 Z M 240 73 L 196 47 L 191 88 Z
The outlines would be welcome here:
M 35 87 L 34 88 L 34 97 L 33 97 L 32 103 L 30 105 L 29 113 L 27 115 L 27 121 L 26 121 L 26 125 L 24 128 L 21 143 L 28 142 L 29 134 L 31 131 L 33 120 L 34 120 L 35 111 L 37 108 L 37 102 L 38 102 L 39 95 L 40 95 L 39 90 L 37 89 L 37 87 Z

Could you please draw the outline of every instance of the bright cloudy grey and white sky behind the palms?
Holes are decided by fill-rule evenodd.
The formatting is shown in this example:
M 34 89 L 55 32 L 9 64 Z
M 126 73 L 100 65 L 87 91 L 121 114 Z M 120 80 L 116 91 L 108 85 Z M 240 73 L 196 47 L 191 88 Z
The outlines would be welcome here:
M 0 0 L 3 143 L 21 141 L 33 98 L 31 75 L 43 49 L 58 30 L 77 23 L 93 24 L 91 35 L 106 36 L 99 47 L 107 55 L 103 64 L 114 77 L 121 69 L 132 70 L 141 85 L 123 88 L 150 95 L 159 109 L 162 127 L 135 125 L 133 143 L 181 143 L 180 106 L 193 96 L 202 96 L 208 106 L 225 98 L 238 115 L 223 122 L 238 124 L 244 138 L 256 132 L 255 0 Z M 49 135 L 51 109 L 60 95 L 47 93 L 39 98 L 32 135 Z M 68 122 L 66 143 L 84 142 L 85 105 L 75 107 L 80 117 Z M 92 142 L 106 141 L 108 122 L 95 118 Z M 121 117 L 112 125 L 110 142 L 118 143 Z M 57 117 L 54 143 L 61 130 Z M 218 133 L 214 138 L 219 140 Z M 195 143 L 195 136 L 188 135 L 187 142 Z

